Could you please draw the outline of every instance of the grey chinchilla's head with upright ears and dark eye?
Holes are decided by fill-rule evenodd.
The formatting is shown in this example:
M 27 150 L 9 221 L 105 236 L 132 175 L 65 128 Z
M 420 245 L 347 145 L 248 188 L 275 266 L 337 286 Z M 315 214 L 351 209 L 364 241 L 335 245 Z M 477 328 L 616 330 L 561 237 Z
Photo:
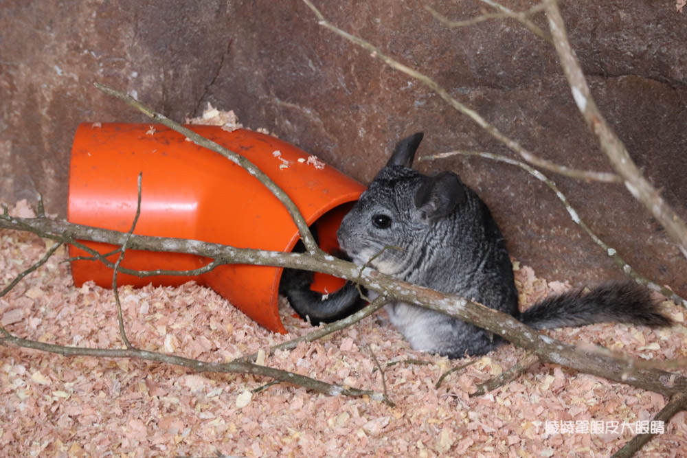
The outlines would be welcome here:
M 389 275 L 407 277 L 453 236 L 452 222 L 466 199 L 466 187 L 453 172 L 434 176 L 412 170 L 423 139 L 416 133 L 398 142 L 368 190 L 343 218 L 337 232 L 353 262 L 369 262 Z

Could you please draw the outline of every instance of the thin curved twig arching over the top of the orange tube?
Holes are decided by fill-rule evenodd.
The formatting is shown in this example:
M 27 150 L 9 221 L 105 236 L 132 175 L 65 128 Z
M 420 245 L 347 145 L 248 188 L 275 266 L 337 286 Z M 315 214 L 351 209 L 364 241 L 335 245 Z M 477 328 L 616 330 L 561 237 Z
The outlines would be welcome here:
M 313 234 L 311 233 L 310 229 L 308 229 L 308 223 L 303 219 L 303 216 L 300 214 L 300 211 L 298 210 L 298 207 L 295 205 L 295 203 L 293 203 L 288 194 L 286 194 L 274 181 L 272 181 L 272 179 L 267 174 L 262 172 L 262 170 L 260 170 L 254 163 L 252 163 L 245 157 L 241 156 L 240 154 L 232 150 L 229 150 L 210 139 L 206 139 L 205 137 L 198 135 L 190 128 L 184 127 L 181 124 L 172 121 L 172 119 L 169 119 L 168 117 L 155 112 L 153 109 L 148 108 L 135 98 L 131 97 L 131 95 L 122 93 L 120 91 L 112 89 L 111 87 L 107 87 L 104 84 L 100 84 L 99 82 L 95 82 L 94 85 L 100 91 L 108 95 L 113 95 L 114 97 L 126 102 L 127 104 L 133 106 L 138 111 L 144 113 L 148 117 L 155 119 L 155 121 L 159 122 L 160 124 L 164 124 L 168 128 L 176 130 L 181 135 L 185 135 L 185 137 L 193 141 L 194 144 L 203 146 L 203 148 L 207 148 L 208 150 L 212 150 L 218 154 L 222 154 L 224 157 L 229 159 L 229 161 L 232 161 L 243 167 L 245 170 L 247 170 L 247 172 L 249 172 L 249 174 L 255 176 L 260 181 L 260 183 L 267 187 L 267 189 L 270 190 L 270 192 L 281 201 L 284 207 L 286 207 L 286 211 L 289 211 L 291 219 L 293 220 L 298 231 L 300 232 L 300 236 L 303 240 L 303 243 L 305 244 L 308 253 L 316 254 L 322 252 L 322 250 L 320 250 L 317 246 L 317 242 L 315 242 L 315 238 L 313 238 Z

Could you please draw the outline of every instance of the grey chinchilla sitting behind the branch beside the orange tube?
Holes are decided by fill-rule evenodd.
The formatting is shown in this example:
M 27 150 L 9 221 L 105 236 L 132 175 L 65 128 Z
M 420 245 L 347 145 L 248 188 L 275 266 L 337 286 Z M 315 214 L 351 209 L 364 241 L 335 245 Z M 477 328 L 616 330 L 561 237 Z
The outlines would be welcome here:
M 631 282 L 604 284 L 587 293 L 573 290 L 519 312 L 506 242 L 486 204 L 453 172 L 428 176 L 410 168 L 422 139 L 423 133 L 416 133 L 399 141 L 343 218 L 339 245 L 355 264 L 460 295 L 535 329 L 606 321 L 672 324 L 657 311 L 649 290 Z M 293 287 L 286 295 L 304 312 L 301 316 L 317 322 L 350 314 L 359 297 L 350 283 L 329 298 L 303 290 L 309 288 Z M 372 291 L 368 295 L 376 297 Z M 498 336 L 441 312 L 404 302 L 385 309 L 415 350 L 461 358 L 485 354 L 501 343 Z

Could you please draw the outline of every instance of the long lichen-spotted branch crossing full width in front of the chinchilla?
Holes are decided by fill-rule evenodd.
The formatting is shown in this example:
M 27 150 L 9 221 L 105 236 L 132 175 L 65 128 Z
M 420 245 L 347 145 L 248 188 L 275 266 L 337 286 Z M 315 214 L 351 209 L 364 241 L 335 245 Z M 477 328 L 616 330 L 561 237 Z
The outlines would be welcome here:
M 14 218 L 0 216 L 0 228 L 30 230 L 54 240 L 85 239 L 95 242 L 121 244 L 126 233 L 109 229 L 70 225 L 47 218 Z M 163 249 L 163 242 L 164 247 Z M 673 396 L 687 389 L 687 377 L 660 369 L 641 368 L 634 358 L 616 358 L 607 352 L 580 349 L 541 334 L 508 314 L 468 301 L 455 295 L 439 293 L 429 288 L 402 282 L 365 267 L 362 270 L 343 260 L 318 257 L 306 253 L 281 253 L 254 249 L 236 249 L 221 244 L 131 235 L 129 249 L 174 251 L 210 257 L 223 263 L 256 264 L 301 268 L 319 271 L 359 282 L 370 290 L 387 295 L 388 299 L 438 310 L 462 321 L 473 323 L 504 339 L 537 354 L 543 362 L 570 367 L 627 385 L 648 389 L 665 396 Z

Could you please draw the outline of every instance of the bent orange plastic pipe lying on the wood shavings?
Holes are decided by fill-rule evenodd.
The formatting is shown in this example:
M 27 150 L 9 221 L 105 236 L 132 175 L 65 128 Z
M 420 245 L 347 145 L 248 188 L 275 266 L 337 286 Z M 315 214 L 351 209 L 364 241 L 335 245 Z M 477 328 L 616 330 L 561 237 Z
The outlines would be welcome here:
M 250 130 L 227 132 L 216 126 L 188 126 L 238 152 L 289 194 L 308 225 L 315 225 L 325 251 L 338 247 L 341 218 L 365 189 L 309 155 L 275 137 Z M 76 130 L 69 170 L 70 222 L 128 231 L 137 207 L 137 177 L 142 172 L 141 214 L 134 233 L 190 238 L 275 251 L 290 251 L 298 231 L 278 199 L 254 176 L 220 154 L 185 139 L 165 126 L 81 124 Z M 116 247 L 83 242 L 100 253 Z M 88 256 L 69 247 L 71 257 Z M 109 257 L 115 261 L 118 255 Z M 126 251 L 122 266 L 135 270 L 185 271 L 209 260 L 184 253 Z M 112 270 L 101 262 L 71 262 L 74 283 L 93 280 L 112 285 Z M 117 284 L 172 285 L 190 280 L 209 286 L 260 325 L 286 332 L 278 312 L 282 268 L 231 264 L 194 277 L 117 275 Z M 333 291 L 341 279 L 316 275 L 313 289 Z

